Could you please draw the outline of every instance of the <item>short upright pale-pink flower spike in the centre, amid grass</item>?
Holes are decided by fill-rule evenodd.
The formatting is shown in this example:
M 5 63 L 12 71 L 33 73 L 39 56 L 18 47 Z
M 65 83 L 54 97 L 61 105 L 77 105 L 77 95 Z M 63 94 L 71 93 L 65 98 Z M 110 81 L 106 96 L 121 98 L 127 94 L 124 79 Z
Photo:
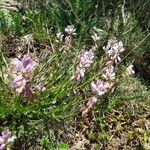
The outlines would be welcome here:
M 84 77 L 85 75 L 85 70 L 86 68 L 90 67 L 90 65 L 93 63 L 93 59 L 94 59 L 94 52 L 91 50 L 83 52 L 81 51 L 80 55 L 79 55 L 79 66 L 77 67 L 77 71 L 76 71 L 76 80 L 80 81 L 81 78 Z

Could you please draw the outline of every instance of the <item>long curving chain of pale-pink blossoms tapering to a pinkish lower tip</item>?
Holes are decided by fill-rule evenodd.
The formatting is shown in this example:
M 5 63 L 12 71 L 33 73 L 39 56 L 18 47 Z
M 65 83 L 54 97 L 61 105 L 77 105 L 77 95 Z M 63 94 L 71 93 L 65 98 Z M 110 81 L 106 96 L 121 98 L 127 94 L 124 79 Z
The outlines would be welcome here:
M 96 103 L 97 97 L 107 93 L 115 83 L 115 70 L 117 63 L 121 61 L 120 54 L 124 51 L 123 43 L 116 39 L 110 39 L 108 40 L 106 47 L 103 47 L 103 49 L 106 53 L 106 59 L 101 79 L 91 83 L 91 90 L 96 94 L 96 96 L 88 99 L 86 108 L 82 111 L 82 116 L 84 116 Z

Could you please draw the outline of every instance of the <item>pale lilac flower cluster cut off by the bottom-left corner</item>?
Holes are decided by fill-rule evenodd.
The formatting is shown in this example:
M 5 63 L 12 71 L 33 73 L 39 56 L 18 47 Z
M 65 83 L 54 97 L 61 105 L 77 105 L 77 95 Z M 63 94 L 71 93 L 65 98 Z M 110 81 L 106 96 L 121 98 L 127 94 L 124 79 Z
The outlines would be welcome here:
M 10 149 L 16 138 L 9 130 L 3 131 L 0 136 L 0 150 Z

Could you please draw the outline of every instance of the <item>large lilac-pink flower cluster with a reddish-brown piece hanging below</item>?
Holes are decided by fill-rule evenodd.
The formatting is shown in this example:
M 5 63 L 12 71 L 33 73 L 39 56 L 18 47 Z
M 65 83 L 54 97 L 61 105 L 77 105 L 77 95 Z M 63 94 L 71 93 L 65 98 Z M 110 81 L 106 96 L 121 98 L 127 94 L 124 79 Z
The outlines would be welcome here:
M 36 67 L 36 62 L 32 60 L 29 55 L 24 55 L 21 59 L 14 59 L 12 64 L 17 71 L 12 88 L 16 93 L 23 93 L 23 95 L 30 100 L 35 98 L 28 82 L 31 80 L 32 73 Z

